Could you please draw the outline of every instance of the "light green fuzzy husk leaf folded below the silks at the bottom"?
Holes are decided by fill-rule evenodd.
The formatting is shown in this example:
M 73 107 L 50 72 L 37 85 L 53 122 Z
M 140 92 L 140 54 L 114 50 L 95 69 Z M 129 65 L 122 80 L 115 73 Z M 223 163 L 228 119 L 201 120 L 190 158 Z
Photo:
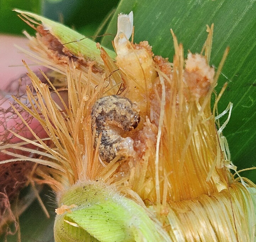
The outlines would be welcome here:
M 150 219 L 146 210 L 106 185 L 97 183 L 76 185 L 63 195 L 60 204 L 77 206 L 71 209 L 71 213 L 57 215 L 55 222 L 57 242 L 61 241 L 59 238 L 72 241 L 69 240 L 70 235 L 69 237 L 61 235 L 60 228 L 64 225 L 60 225 L 60 220 L 63 224 L 70 223 L 71 227 L 74 223 L 73 228 L 69 228 L 74 236 L 78 234 L 74 230 L 80 231 L 83 228 L 90 236 L 102 242 L 162 241 L 158 226 Z M 89 235 L 85 238 L 87 239 Z

